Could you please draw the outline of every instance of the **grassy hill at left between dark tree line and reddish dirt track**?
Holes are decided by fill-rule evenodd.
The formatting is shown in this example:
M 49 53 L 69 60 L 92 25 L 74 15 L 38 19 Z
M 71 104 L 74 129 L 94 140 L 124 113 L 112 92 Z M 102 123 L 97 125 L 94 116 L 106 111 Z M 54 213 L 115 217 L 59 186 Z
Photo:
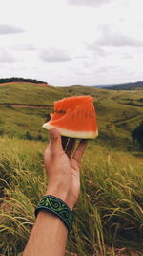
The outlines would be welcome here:
M 60 99 L 64 90 L 49 85 L 38 86 L 30 82 L 13 82 L 0 85 L 0 103 L 52 105 Z

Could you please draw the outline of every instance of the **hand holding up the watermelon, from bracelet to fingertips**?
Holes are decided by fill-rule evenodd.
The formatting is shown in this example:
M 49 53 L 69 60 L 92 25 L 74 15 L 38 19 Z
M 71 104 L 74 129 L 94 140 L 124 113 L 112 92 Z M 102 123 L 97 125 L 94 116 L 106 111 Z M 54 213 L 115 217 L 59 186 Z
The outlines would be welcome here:
M 51 129 L 50 144 L 44 152 L 44 163 L 49 177 L 46 194 L 61 198 L 71 209 L 79 196 L 79 168 L 87 142 L 81 140 L 74 151 L 76 139 L 61 138 L 56 129 Z

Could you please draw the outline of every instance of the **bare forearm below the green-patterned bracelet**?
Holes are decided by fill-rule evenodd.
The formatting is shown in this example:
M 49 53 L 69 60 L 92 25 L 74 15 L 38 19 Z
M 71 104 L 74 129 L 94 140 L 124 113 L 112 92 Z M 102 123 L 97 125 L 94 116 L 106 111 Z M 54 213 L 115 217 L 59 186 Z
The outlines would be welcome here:
M 56 216 L 39 212 L 23 256 L 63 256 L 68 229 Z

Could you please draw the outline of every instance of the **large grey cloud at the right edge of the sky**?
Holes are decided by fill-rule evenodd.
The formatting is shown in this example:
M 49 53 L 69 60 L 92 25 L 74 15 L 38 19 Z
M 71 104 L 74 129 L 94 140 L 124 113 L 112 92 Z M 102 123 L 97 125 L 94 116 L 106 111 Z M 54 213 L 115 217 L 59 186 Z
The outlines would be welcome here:
M 124 35 L 119 30 L 112 31 L 107 25 L 102 25 L 99 27 L 100 36 L 94 42 L 94 46 L 143 46 L 143 41 L 133 38 L 130 35 Z M 93 45 L 91 45 L 93 47 Z

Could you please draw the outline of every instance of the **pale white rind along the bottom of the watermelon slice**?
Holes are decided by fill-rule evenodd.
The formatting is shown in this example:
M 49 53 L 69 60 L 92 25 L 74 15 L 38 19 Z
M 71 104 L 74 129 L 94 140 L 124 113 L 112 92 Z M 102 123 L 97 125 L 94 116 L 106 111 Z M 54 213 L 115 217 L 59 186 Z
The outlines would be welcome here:
M 69 130 L 69 129 L 58 128 L 58 127 L 52 126 L 50 124 L 50 122 L 45 123 L 42 127 L 46 128 L 48 130 L 50 130 L 51 128 L 56 128 L 62 136 L 69 137 L 69 138 L 94 139 L 98 136 L 98 131 L 95 131 L 95 132 L 73 131 L 73 130 Z

